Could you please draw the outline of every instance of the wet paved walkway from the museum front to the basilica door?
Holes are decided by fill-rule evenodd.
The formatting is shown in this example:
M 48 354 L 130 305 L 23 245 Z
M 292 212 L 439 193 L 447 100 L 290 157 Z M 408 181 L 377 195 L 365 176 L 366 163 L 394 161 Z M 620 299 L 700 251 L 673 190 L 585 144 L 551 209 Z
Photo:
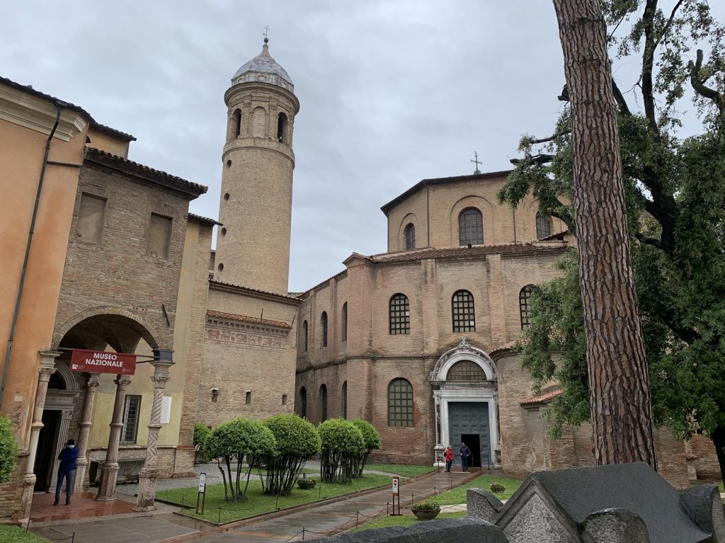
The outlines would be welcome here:
M 415 501 L 427 495 L 444 492 L 451 486 L 459 486 L 478 473 L 433 473 L 400 486 L 400 502 L 403 513 L 410 505 L 411 494 Z M 159 481 L 160 483 L 161 481 Z M 176 484 L 175 481 L 171 484 Z M 188 480 L 187 484 L 188 486 Z M 199 543 L 240 542 L 273 543 L 302 541 L 302 529 L 305 540 L 318 537 L 318 534 L 340 531 L 355 526 L 356 516 L 362 522 L 368 517 L 386 514 L 386 504 L 391 501 L 391 489 L 370 492 L 325 505 L 310 505 L 304 510 L 289 513 L 278 518 L 268 518 L 243 526 L 245 521 L 233 525 L 212 527 L 175 515 L 159 513 L 139 518 L 103 518 L 94 522 L 72 522 L 57 526 L 32 529 L 46 539 L 61 539 L 75 533 L 75 543 L 173 543 L 194 541 Z M 91 520 L 91 519 L 88 519 Z M 70 539 L 69 539 L 70 541 Z

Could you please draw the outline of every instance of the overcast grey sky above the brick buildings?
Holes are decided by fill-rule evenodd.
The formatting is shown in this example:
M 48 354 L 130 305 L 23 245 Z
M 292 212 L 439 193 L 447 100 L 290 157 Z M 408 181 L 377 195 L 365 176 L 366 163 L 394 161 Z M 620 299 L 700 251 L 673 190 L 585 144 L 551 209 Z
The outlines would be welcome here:
M 508 169 L 521 134 L 548 135 L 561 107 L 550 0 L 2 4 L 0 75 L 132 133 L 130 159 L 209 186 L 191 203 L 207 217 L 218 216 L 223 95 L 269 25 L 300 102 L 291 291 L 353 251 L 384 252 L 381 205 L 421 179 L 473 173 L 474 151 L 481 170 Z M 623 88 L 634 70 L 616 65 Z

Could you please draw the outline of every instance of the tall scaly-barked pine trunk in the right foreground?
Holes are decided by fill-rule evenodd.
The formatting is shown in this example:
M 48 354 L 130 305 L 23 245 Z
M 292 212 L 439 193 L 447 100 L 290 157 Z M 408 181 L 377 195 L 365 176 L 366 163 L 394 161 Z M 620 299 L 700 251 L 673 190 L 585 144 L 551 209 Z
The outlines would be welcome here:
M 600 0 L 554 0 L 571 101 L 579 288 L 595 463 L 656 468 L 629 254 L 616 102 Z

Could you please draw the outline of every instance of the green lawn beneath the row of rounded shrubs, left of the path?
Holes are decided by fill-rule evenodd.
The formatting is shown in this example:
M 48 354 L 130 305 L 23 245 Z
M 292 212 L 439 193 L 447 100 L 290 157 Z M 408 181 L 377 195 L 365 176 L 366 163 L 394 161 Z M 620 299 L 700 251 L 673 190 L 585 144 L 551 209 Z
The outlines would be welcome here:
M 204 514 L 195 513 L 194 509 L 186 509 L 184 513 L 196 518 L 202 518 L 212 523 L 226 523 L 237 521 L 262 513 L 270 513 L 277 509 L 287 509 L 296 505 L 316 502 L 326 498 L 353 494 L 361 490 L 388 486 L 390 477 L 376 473 L 365 473 L 362 477 L 352 480 L 350 484 L 329 484 L 318 483 L 314 489 L 302 490 L 294 487 L 291 495 L 283 497 L 266 496 L 262 494 L 260 481 L 249 481 L 248 500 L 246 502 L 226 502 L 224 500 L 224 488 L 221 484 L 207 486 L 207 499 L 204 506 Z M 186 489 L 161 490 L 156 493 L 158 500 L 194 507 L 196 505 L 197 487 Z M 221 509 L 220 509 L 221 507 Z M 0 539 L 0 541 L 3 541 Z

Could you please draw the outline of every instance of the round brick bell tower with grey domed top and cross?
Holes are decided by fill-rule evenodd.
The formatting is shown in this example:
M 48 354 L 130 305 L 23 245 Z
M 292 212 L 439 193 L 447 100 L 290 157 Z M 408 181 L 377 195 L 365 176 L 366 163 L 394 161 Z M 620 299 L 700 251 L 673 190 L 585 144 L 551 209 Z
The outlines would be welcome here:
M 270 57 L 243 65 L 224 94 L 228 107 L 215 279 L 286 294 L 292 214 L 294 85 Z

